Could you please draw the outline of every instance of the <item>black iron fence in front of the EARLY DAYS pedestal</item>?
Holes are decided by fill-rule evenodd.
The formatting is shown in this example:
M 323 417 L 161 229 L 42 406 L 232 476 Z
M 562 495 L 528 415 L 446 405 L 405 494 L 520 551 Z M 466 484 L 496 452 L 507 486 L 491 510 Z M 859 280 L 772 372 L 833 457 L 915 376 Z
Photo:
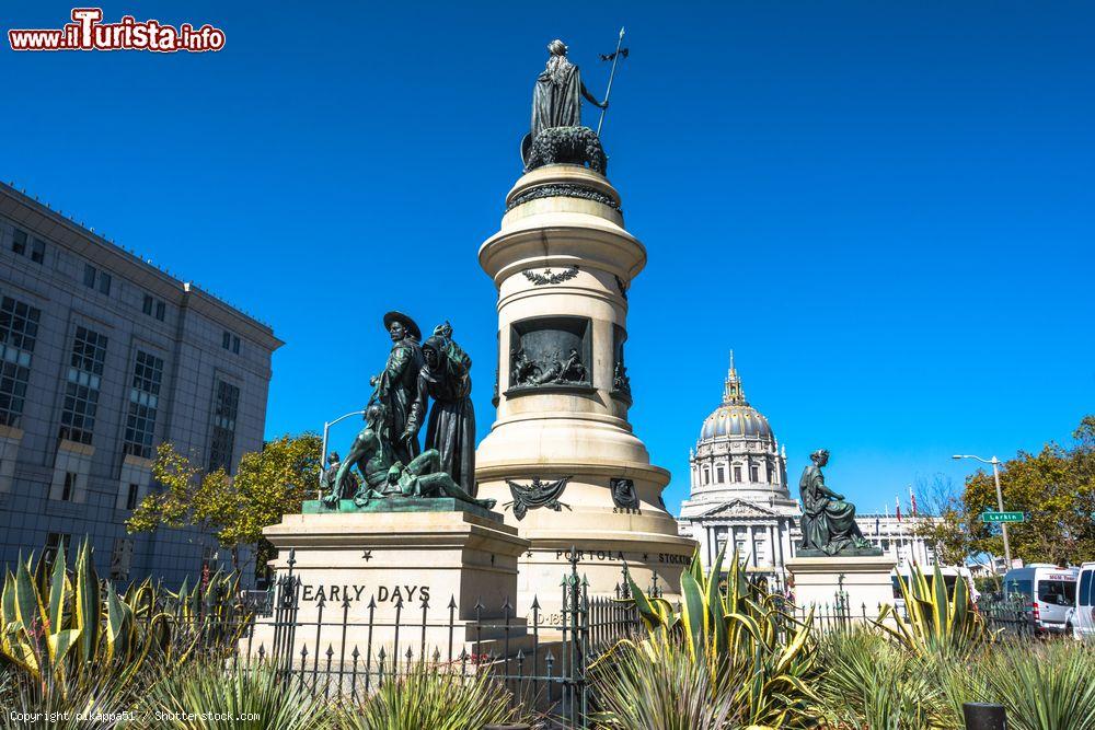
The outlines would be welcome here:
M 306 584 L 288 570 L 268 592 L 246 596 L 249 617 L 235 627 L 228 661 L 238 671 L 260 663 L 286 682 L 324 697 L 362 700 L 418 663 L 471 677 L 487 672 L 510 692 L 511 703 L 552 717 L 567 728 L 586 727 L 590 664 L 623 638 L 645 636 L 631 598 L 626 567 L 611 595 L 591 595 L 576 552 L 550 610 L 540 598 L 519 616 L 512 598 L 502 605 L 476 601 L 461 617 L 456 595 L 364 606 L 339 592 L 306 601 Z M 660 595 L 657 576 L 648 592 Z M 231 630 L 221 631 L 232 635 Z

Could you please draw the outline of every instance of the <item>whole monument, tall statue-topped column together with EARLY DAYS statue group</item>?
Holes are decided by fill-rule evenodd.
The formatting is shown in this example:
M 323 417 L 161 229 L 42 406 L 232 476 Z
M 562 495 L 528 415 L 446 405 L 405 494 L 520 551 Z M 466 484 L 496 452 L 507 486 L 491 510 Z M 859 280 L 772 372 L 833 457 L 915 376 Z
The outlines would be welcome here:
M 661 500 L 669 473 L 627 421 L 642 392 L 624 366 L 627 289 L 646 248 L 623 227 L 599 136 L 581 125 L 581 100 L 603 113 L 608 99 L 592 97 L 561 40 L 532 86 L 525 172 L 479 253 L 498 289 L 491 433 L 475 450 L 472 360 L 452 325 L 423 341 L 412 316 L 388 312 L 391 347 L 368 379 L 360 432 L 323 471 L 322 497 L 264 531 L 278 575 L 300 580 L 297 621 L 319 622 L 307 596 L 337 589 L 350 623 L 397 625 L 394 596 L 414 595 L 424 646 L 443 640 L 452 612 L 505 617 L 516 650 L 534 599 L 541 623 L 567 621 L 568 570 L 595 596 L 614 593 L 625 565 L 639 586 L 671 590 L 691 558 Z

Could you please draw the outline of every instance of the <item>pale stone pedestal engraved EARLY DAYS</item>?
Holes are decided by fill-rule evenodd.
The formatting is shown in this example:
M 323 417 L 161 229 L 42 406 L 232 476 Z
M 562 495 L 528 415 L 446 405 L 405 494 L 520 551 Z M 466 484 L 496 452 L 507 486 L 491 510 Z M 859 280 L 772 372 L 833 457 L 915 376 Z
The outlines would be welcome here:
M 270 564 L 277 579 L 292 576 L 299 586 L 260 618 L 252 653 L 291 645 L 298 661 L 306 649 L 321 661 L 330 651 L 338 664 L 357 650 L 362 664 L 367 656 L 376 664 L 381 648 L 401 661 L 407 649 L 414 659 L 437 652 L 442 661 L 461 651 L 528 650 L 532 637 L 515 606 L 517 560 L 529 542 L 500 514 L 462 506 L 445 498 L 388 498 L 365 508 L 344 500 L 342 509 L 306 501 L 302 514 L 266 528 L 278 549 Z

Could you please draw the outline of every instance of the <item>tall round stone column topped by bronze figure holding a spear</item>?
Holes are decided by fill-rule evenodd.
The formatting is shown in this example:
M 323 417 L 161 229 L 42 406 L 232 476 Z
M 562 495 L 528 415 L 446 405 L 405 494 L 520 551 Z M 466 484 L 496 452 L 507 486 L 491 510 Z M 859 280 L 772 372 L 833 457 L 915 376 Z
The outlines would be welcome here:
M 694 548 L 661 500 L 669 473 L 650 464 L 627 420 L 643 391 L 624 366 L 627 291 L 647 252 L 624 228 L 600 138 L 581 126 L 581 100 L 602 109 L 608 100 L 589 93 L 565 44 L 548 50 L 523 175 L 479 252 L 498 291 L 498 379 L 476 496 L 496 499 L 532 543 L 520 557 L 519 609 L 552 594 L 572 548 L 600 593 L 614 590 L 625 563 L 641 586 L 655 572 L 678 586 Z

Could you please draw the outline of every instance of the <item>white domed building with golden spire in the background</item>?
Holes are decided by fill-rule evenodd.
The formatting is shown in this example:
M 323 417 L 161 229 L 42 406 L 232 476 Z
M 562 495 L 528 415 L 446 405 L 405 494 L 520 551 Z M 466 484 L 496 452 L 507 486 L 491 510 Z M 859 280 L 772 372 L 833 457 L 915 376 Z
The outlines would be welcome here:
M 787 484 L 786 448 L 746 401 L 733 352 L 723 403 L 704 419 L 689 465 L 691 494 L 681 503 L 679 525 L 682 535 L 700 544 L 704 565 L 723 546 L 727 553 L 737 548 L 751 572 L 783 586 L 784 566 L 802 540 L 802 510 L 792 497 L 798 487 Z M 864 537 L 897 559 L 900 569 L 911 561 L 934 563 L 933 551 L 912 534 L 914 521 L 922 519 L 860 514 L 856 521 Z

